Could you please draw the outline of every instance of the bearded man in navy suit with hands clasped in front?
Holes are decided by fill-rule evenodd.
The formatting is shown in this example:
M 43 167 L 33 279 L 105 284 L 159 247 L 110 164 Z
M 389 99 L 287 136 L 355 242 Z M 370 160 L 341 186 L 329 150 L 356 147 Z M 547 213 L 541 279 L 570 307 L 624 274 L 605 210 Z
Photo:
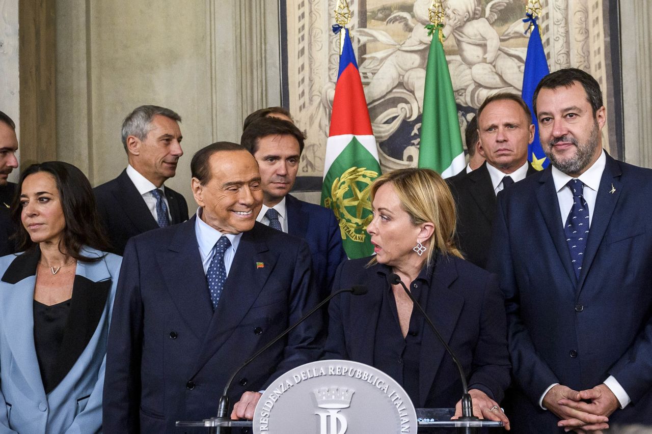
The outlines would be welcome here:
M 548 74 L 533 109 L 550 166 L 498 197 L 488 264 L 507 307 L 505 412 L 519 433 L 649 429 L 652 171 L 602 149 L 586 72 Z

